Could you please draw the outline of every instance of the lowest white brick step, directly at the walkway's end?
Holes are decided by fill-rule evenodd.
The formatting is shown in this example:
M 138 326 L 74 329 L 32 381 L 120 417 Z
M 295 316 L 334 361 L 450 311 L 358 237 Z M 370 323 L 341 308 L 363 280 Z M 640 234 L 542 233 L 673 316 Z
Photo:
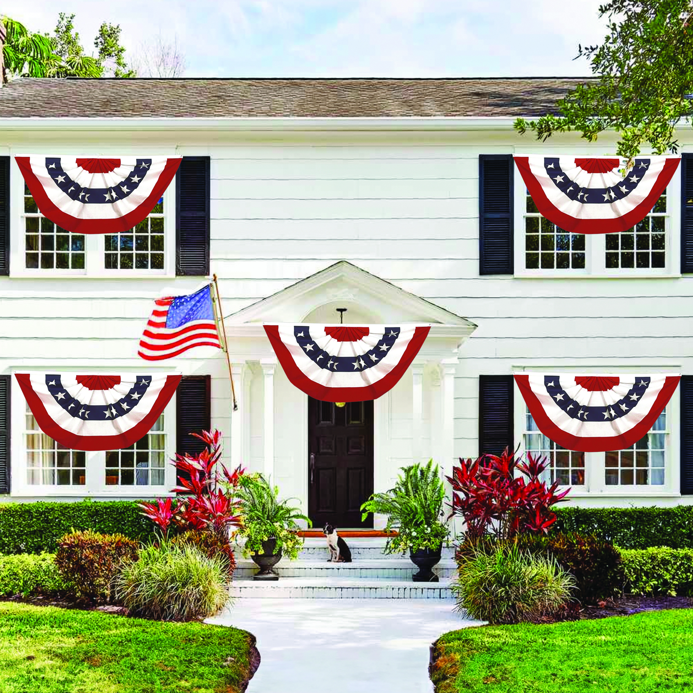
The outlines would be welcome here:
M 369 580 L 344 577 L 283 577 L 274 582 L 234 579 L 231 598 L 277 599 L 453 599 L 451 580 Z

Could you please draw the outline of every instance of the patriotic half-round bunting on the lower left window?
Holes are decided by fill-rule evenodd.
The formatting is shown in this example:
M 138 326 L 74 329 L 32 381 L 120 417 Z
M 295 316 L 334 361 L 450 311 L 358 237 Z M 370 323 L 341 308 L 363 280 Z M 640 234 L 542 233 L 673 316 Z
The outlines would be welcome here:
M 121 450 L 147 435 L 180 375 L 17 373 L 39 428 L 72 450 Z

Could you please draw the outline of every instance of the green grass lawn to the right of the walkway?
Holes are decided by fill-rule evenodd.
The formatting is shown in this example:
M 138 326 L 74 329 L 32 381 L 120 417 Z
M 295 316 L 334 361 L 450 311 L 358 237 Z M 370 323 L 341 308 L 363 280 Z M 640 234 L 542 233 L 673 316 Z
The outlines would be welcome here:
M 440 638 L 437 693 L 693 693 L 693 609 Z

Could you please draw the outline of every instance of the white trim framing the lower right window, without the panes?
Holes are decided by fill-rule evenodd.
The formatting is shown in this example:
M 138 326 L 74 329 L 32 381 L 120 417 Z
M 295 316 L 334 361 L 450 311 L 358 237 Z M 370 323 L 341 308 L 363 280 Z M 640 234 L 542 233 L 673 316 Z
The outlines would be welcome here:
M 524 371 L 561 371 L 565 373 L 583 374 L 587 372 L 608 373 L 608 374 L 632 374 L 642 371 L 643 373 L 676 373 L 681 372 L 681 365 L 626 365 L 604 367 L 599 366 L 565 366 L 559 364 L 513 366 L 514 373 Z M 515 387 L 515 408 L 513 421 L 515 430 L 519 434 L 520 447 L 518 455 L 525 455 L 525 412 L 527 403 L 517 385 Z M 680 394 L 677 387 L 666 407 L 667 412 L 667 431 L 665 441 L 665 468 L 664 484 L 660 486 L 638 486 L 638 485 L 613 485 L 608 486 L 604 478 L 606 469 L 606 453 L 585 453 L 585 484 L 583 486 L 560 486 L 560 489 L 572 488 L 568 494 L 571 498 L 680 498 L 681 497 L 681 465 L 678 464 L 679 446 L 681 441 L 680 428 Z

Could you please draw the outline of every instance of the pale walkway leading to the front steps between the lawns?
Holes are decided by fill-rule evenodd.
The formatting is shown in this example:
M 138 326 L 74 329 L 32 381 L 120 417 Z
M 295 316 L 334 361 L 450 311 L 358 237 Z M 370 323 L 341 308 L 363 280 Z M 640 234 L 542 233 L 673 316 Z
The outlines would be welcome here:
M 236 599 L 208 623 L 254 633 L 247 693 L 430 693 L 428 646 L 480 622 L 444 599 Z

